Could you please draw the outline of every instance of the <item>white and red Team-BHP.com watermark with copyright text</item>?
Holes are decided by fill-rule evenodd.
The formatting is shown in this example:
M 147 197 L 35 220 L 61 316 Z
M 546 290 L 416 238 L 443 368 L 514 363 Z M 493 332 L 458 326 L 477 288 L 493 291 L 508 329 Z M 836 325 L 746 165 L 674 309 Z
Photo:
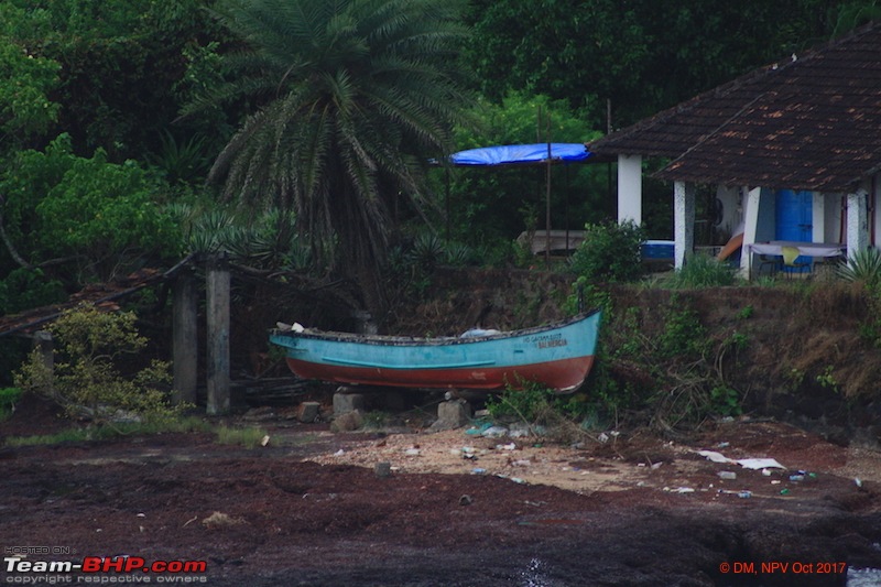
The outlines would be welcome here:
M 13 585 L 208 583 L 205 561 L 152 561 L 140 556 L 85 556 L 78 561 L 61 558 L 75 554 L 64 546 L 7 546 L 3 554 L 3 583 Z M 57 557 L 33 561 L 31 556 Z

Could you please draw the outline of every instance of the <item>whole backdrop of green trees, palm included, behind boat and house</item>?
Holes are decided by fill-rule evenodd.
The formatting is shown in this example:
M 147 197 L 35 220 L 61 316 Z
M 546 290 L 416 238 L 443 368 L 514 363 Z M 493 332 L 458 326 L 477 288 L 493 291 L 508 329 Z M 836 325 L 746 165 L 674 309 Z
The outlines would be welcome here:
M 0 307 L 28 304 L 19 284 L 42 301 L 59 279 L 173 262 L 192 235 L 166 207 L 218 193 L 290 209 L 261 218 L 294 222 L 322 271 L 381 260 L 402 222 L 510 243 L 540 180 L 426 184 L 425 162 L 544 140 L 536 105 L 551 139 L 587 141 L 607 104 L 621 127 L 879 17 L 878 0 L 6 0 L 0 296 L 17 302 Z M 607 178 L 579 171 L 553 221 L 611 213 Z

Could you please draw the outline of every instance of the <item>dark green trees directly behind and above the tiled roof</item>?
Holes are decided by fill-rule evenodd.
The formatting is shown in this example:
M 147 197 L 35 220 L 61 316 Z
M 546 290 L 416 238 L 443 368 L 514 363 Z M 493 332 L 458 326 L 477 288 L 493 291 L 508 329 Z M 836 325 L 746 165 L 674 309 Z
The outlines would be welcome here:
M 474 0 L 467 57 L 490 99 L 511 88 L 547 94 L 601 129 L 610 99 L 618 129 L 802 52 L 830 32 L 833 4 Z

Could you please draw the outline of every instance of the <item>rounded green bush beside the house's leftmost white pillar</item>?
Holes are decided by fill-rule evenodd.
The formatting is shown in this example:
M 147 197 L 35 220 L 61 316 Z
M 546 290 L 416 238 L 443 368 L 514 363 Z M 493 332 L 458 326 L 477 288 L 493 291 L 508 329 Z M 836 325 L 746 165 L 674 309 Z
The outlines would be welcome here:
M 643 274 L 642 228 L 632 221 L 585 226 L 585 240 L 572 256 L 570 270 L 591 282 L 629 282 Z

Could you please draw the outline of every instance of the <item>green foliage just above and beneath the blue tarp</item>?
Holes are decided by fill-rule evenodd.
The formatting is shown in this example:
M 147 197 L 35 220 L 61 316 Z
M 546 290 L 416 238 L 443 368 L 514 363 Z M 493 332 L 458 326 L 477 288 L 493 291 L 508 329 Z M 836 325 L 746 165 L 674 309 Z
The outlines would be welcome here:
M 548 124 L 540 124 L 539 115 Z M 457 127 L 456 151 L 546 140 L 583 143 L 599 133 L 565 101 L 547 96 L 510 93 L 501 104 L 481 100 L 468 112 L 470 124 Z M 539 134 L 536 137 L 536 127 Z M 453 167 L 434 174 L 435 191 L 449 191 L 452 237 L 471 246 L 513 240 L 523 230 L 545 224 L 546 167 Z M 551 177 L 552 228 L 580 229 L 603 219 L 606 169 L 599 165 L 556 165 Z M 445 196 L 447 197 L 447 196 Z M 475 227 L 480 230 L 475 230 Z

